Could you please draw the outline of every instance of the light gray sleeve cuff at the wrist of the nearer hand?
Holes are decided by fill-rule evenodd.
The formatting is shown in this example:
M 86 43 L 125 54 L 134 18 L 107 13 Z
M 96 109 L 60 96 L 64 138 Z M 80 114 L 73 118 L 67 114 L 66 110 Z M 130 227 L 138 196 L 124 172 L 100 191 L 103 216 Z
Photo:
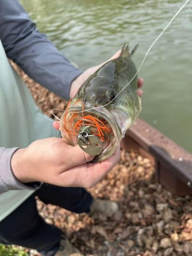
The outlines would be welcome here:
M 10 189 L 32 189 L 36 190 L 41 186 L 40 182 L 23 184 L 14 176 L 11 168 L 11 158 L 18 147 L 0 147 L 0 194 Z

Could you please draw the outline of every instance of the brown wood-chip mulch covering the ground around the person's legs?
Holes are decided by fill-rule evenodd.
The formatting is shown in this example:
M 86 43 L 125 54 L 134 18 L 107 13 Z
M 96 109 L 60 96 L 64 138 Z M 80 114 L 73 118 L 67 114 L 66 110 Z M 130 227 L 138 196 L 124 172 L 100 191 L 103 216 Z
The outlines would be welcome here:
M 48 116 L 66 101 L 48 91 L 12 63 Z M 38 91 L 38 94 L 36 93 Z M 112 214 L 72 213 L 36 199 L 39 214 L 58 226 L 86 256 L 191 256 L 192 196 L 172 195 L 156 182 L 150 159 L 121 149 L 120 161 L 94 188 L 94 198 L 116 201 Z M 25 249 L 31 256 L 35 250 Z

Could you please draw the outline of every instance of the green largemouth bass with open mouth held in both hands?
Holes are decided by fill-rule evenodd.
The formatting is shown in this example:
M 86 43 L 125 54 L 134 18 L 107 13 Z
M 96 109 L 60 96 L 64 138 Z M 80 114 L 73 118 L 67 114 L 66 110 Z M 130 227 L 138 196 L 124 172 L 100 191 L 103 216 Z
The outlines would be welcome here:
M 129 46 L 124 44 L 117 58 L 86 79 L 60 118 L 61 136 L 66 143 L 77 145 L 82 132 L 96 135 L 102 142 L 102 152 L 92 162 L 100 162 L 114 153 L 141 111 L 137 68 L 132 61 L 137 48 L 138 45 L 130 53 Z M 89 136 L 82 143 L 84 147 L 91 145 Z

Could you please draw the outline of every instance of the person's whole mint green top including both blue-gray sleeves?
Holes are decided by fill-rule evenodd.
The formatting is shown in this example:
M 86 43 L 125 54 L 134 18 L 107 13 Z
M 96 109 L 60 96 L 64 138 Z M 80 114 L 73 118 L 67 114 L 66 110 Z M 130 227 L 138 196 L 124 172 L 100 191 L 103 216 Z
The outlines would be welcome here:
M 0 40 L 1 221 L 41 186 L 40 183 L 26 186 L 14 177 L 13 153 L 34 140 L 60 136 L 52 126 L 53 120 L 38 109 L 7 57 L 31 78 L 63 98 L 69 98 L 70 84 L 81 71 L 36 30 L 35 23 L 18 0 L 0 0 Z

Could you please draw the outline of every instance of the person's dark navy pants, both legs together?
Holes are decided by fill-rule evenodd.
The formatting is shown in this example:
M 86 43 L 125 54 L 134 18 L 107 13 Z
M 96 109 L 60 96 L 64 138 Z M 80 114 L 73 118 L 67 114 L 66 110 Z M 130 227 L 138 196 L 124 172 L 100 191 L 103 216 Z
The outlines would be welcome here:
M 89 212 L 91 195 L 82 188 L 64 188 L 43 184 L 16 210 L 0 222 L 0 243 L 33 248 L 43 256 L 53 256 L 59 248 L 61 231 L 38 215 L 35 196 L 67 210 Z

